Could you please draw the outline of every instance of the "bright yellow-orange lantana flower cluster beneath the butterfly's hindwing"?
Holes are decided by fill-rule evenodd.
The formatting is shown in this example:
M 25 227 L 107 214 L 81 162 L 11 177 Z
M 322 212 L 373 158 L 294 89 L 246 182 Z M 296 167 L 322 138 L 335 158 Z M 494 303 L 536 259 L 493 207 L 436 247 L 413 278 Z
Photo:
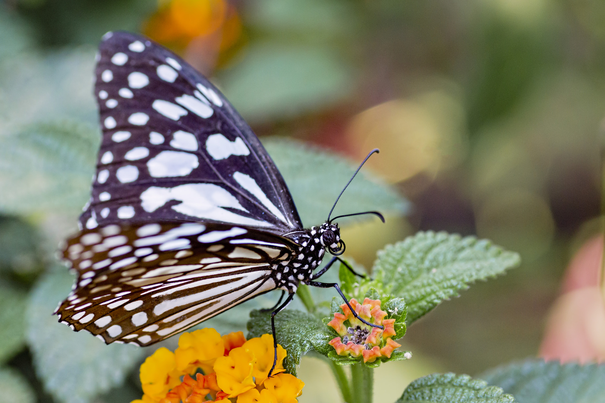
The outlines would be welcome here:
M 221 337 L 215 329 L 185 333 L 178 348 L 161 347 L 140 367 L 143 398 L 132 403 L 296 403 L 304 382 L 283 373 L 286 350 L 273 337 L 246 340 L 242 332 Z M 203 373 L 200 373 L 201 372 Z

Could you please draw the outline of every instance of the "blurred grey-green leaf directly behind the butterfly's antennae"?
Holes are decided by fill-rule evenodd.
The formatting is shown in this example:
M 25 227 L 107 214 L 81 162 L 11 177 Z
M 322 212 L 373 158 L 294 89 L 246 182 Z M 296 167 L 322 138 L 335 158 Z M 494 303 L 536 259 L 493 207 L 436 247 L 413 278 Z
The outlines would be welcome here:
M 356 166 L 300 141 L 274 137 L 264 140 L 263 144 L 286 179 L 302 222 L 305 225 L 325 222 Z M 362 170 L 343 193 L 332 216 L 365 210 L 404 214 L 408 207 L 408 202 L 393 188 Z

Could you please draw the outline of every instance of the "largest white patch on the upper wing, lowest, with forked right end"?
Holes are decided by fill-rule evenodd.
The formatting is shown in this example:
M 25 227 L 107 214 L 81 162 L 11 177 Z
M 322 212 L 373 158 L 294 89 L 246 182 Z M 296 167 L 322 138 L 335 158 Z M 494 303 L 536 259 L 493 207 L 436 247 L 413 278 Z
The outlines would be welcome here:
M 179 200 L 182 203 L 173 205 L 172 209 L 188 216 L 259 227 L 271 225 L 268 222 L 244 217 L 222 208 L 231 207 L 247 211 L 241 207 L 235 196 L 215 184 L 195 183 L 178 185 L 172 188 L 152 186 L 141 193 L 140 197 L 143 209 L 149 213 L 162 207 L 170 200 Z

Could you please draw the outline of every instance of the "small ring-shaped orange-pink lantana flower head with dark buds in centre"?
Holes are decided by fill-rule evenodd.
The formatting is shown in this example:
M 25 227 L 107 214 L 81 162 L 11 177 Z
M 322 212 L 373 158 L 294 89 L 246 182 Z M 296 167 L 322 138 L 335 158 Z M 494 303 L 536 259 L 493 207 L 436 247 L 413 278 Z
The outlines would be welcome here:
M 329 341 L 338 355 L 349 355 L 354 358 L 363 359 L 364 363 L 373 363 L 377 358 L 391 357 L 393 350 L 401 344 L 392 340 L 396 334 L 394 319 L 385 319 L 387 312 L 381 309 L 381 300 L 370 300 L 365 298 L 359 303 L 355 298 L 349 301 L 351 307 L 359 317 L 372 324 L 382 325 L 380 327 L 369 326 L 353 315 L 347 304 L 342 304 L 342 314 L 335 312 L 334 318 L 327 325 L 332 327 L 340 335 Z

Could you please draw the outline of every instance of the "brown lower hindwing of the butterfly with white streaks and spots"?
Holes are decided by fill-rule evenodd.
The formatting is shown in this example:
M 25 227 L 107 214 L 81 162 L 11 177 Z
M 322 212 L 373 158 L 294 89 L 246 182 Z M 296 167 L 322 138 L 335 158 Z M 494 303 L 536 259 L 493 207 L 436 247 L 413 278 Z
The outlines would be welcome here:
M 155 343 L 275 289 L 289 239 L 229 224 L 107 225 L 68 240 L 78 278 L 59 320 L 106 343 Z

